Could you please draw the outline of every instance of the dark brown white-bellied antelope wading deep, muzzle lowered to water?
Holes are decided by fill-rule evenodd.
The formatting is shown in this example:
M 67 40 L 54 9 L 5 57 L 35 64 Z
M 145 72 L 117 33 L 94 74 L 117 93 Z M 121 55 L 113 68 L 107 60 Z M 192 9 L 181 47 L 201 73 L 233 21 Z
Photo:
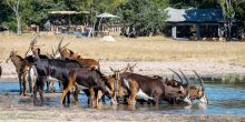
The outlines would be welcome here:
M 188 103 L 192 103 L 187 98 L 187 92 L 182 85 L 179 88 L 175 88 L 174 85 L 168 85 L 161 82 L 159 79 L 154 79 L 147 75 L 130 72 L 120 73 L 114 69 L 111 69 L 111 71 L 114 72 L 116 82 L 118 82 L 115 84 L 122 84 L 122 87 L 127 90 L 128 105 L 131 105 L 133 102 L 136 101 L 136 98 L 145 99 L 154 104 L 159 104 L 161 100 L 167 98 L 179 98 Z

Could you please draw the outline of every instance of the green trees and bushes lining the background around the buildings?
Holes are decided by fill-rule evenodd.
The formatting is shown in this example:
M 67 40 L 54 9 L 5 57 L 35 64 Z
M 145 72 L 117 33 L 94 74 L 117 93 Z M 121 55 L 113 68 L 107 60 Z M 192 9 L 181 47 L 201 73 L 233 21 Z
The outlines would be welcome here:
M 168 17 L 165 8 L 218 8 L 223 9 L 226 20 L 236 19 L 244 28 L 245 0 L 1 0 L 0 27 L 17 30 L 17 14 L 12 7 L 19 1 L 21 26 L 36 23 L 43 29 L 47 20 L 52 19 L 48 11 L 74 10 L 89 11 L 86 19 L 74 18 L 80 23 L 96 24 L 96 16 L 102 12 L 120 17 L 122 27 L 136 29 L 137 35 L 158 33 Z M 124 29 L 124 28 L 122 28 Z

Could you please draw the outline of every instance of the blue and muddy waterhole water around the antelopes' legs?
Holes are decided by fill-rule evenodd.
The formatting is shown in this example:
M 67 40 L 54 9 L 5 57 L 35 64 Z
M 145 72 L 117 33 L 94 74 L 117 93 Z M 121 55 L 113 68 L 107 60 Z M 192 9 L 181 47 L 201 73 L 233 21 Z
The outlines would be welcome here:
M 198 85 L 198 84 L 197 84 Z M 217 84 L 206 83 L 206 95 L 209 104 L 198 104 L 197 102 L 192 105 L 169 105 L 163 103 L 159 106 L 149 106 L 147 104 L 137 104 L 135 108 L 128 108 L 126 105 L 119 105 L 117 110 L 135 110 L 135 111 L 154 111 L 160 113 L 206 113 L 206 114 L 245 114 L 245 83 L 236 84 Z M 46 88 L 45 88 L 46 89 Z M 58 83 L 55 83 L 55 90 L 59 92 Z M 0 94 L 1 95 L 17 95 L 19 92 L 19 84 L 16 80 L 0 80 Z M 45 105 L 60 106 L 59 99 L 60 93 L 45 93 Z M 9 101 L 6 101 L 9 102 Z M 30 104 L 32 105 L 32 99 L 30 96 L 14 98 L 11 100 L 16 104 Z M 88 108 L 87 96 L 84 93 L 79 95 L 79 108 Z M 115 109 L 110 106 L 107 101 L 106 104 L 100 105 L 99 109 Z

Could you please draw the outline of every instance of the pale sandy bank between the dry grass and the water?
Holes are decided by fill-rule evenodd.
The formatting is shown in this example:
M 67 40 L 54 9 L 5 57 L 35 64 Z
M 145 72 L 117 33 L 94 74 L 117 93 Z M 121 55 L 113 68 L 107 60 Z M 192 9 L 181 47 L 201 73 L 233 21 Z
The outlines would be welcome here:
M 186 75 L 194 77 L 193 70 L 196 70 L 200 75 L 207 78 L 220 78 L 224 75 L 236 75 L 238 80 L 245 79 L 245 63 L 234 62 L 213 62 L 213 61 L 100 61 L 100 69 L 105 74 L 111 74 L 109 68 L 122 69 L 127 63 L 135 64 L 135 72 L 147 75 L 169 77 L 173 74 L 168 68 L 174 70 L 182 70 Z M 14 65 L 9 63 L 1 63 L 3 69 L 2 79 L 17 79 Z

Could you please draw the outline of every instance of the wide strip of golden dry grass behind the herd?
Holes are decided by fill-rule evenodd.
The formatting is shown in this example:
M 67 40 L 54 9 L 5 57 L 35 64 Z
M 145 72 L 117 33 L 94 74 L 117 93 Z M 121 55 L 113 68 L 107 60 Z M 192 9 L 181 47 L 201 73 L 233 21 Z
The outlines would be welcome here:
M 0 34 L 0 60 L 6 60 L 11 50 L 17 50 L 23 55 L 32 38 L 32 34 Z M 41 53 L 51 53 L 51 45 L 57 48 L 60 38 L 60 35 L 41 34 L 38 43 L 46 44 L 41 48 Z M 70 42 L 68 48 L 84 58 L 104 60 L 245 61 L 245 42 L 174 41 L 163 37 L 137 39 L 115 37 L 115 39 L 117 42 L 105 42 L 101 38 L 65 35 L 63 44 Z

